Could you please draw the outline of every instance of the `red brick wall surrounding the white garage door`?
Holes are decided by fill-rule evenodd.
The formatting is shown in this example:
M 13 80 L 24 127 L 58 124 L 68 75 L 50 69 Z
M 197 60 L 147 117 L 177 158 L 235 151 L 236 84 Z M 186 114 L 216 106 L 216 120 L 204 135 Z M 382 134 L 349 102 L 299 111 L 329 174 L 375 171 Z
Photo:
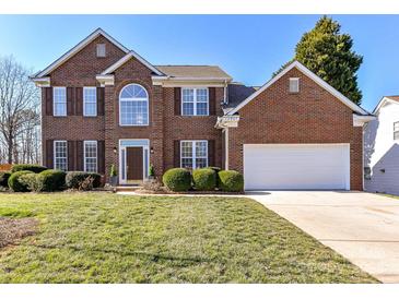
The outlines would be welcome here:
M 289 79 L 300 77 L 300 93 L 289 93 Z M 230 169 L 243 171 L 243 144 L 350 143 L 351 189 L 363 189 L 362 127 L 352 110 L 292 69 L 239 110 L 238 128 L 228 129 Z

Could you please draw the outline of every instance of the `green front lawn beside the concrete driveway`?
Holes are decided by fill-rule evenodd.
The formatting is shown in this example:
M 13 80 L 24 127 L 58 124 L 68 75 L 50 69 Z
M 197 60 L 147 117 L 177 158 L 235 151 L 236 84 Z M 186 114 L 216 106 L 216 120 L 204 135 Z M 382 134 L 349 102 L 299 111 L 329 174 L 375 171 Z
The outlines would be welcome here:
M 373 283 L 248 199 L 0 194 L 35 236 L 0 250 L 0 283 Z

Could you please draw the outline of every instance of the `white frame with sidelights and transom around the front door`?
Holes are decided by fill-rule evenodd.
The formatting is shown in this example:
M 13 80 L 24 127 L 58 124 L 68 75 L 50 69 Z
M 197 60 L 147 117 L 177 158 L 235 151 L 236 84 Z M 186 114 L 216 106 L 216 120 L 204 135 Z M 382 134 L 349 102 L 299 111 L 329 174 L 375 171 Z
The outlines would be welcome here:
M 141 147 L 143 151 L 143 180 L 148 178 L 150 167 L 150 140 L 148 139 L 120 139 L 119 145 L 119 184 L 127 184 L 126 148 Z

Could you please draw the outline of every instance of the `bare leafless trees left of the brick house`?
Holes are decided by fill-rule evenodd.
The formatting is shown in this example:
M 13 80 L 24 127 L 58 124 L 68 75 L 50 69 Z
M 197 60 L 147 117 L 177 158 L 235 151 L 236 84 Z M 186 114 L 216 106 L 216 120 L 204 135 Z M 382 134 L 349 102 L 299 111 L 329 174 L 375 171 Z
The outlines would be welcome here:
M 39 97 L 30 70 L 0 58 L 0 162 L 39 162 Z

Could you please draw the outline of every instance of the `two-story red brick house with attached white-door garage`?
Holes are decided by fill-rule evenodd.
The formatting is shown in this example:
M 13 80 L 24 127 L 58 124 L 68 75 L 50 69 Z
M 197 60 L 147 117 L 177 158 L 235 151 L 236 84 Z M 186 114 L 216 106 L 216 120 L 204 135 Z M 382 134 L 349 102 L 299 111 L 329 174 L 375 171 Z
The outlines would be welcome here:
M 219 67 L 153 65 L 102 29 L 32 80 L 44 164 L 141 182 L 172 167 L 244 172 L 246 189 L 363 188 L 373 117 L 298 62 L 263 86 Z

